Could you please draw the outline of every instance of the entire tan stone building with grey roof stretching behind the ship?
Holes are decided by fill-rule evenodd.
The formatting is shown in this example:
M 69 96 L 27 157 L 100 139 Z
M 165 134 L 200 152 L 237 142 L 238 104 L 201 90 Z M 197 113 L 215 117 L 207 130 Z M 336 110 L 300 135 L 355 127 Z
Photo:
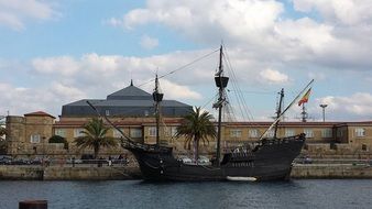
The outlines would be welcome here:
M 156 128 L 153 100 L 149 92 L 131 84 L 107 96 L 107 99 L 84 99 L 63 106 L 58 120 L 51 114 L 39 111 L 24 114 L 24 117 L 8 117 L 7 136 L 8 152 L 14 154 L 48 154 L 64 155 L 91 153 L 89 150 L 77 150 L 74 139 L 81 135 L 84 124 L 97 117 L 97 112 L 87 103 L 92 103 L 101 116 L 107 116 L 128 136 L 138 142 L 155 143 Z M 184 140 L 175 139 L 176 128 L 182 117 L 192 110 L 192 106 L 175 101 L 162 102 L 163 122 L 161 124 L 161 143 L 183 148 Z M 271 122 L 225 122 L 222 123 L 221 147 L 228 151 L 247 141 L 256 141 L 271 125 Z M 337 153 L 337 152 L 368 152 L 372 148 L 372 121 L 365 122 L 282 122 L 278 125 L 277 136 L 291 136 L 306 133 L 308 152 Z M 270 131 L 267 136 L 273 136 Z M 69 148 L 63 145 L 50 144 L 52 135 L 61 135 L 69 143 Z M 120 138 L 120 133 L 111 129 L 109 135 Z M 201 152 L 214 152 L 215 140 Z M 123 150 L 102 150 L 103 155 L 119 154 Z

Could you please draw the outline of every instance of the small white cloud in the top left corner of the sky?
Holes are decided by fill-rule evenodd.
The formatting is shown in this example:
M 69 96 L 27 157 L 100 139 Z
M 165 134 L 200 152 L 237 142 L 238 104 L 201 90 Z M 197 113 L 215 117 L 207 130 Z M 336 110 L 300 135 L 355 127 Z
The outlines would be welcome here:
M 23 30 L 30 20 L 48 20 L 57 15 L 51 2 L 39 0 L 0 0 L 0 25 Z

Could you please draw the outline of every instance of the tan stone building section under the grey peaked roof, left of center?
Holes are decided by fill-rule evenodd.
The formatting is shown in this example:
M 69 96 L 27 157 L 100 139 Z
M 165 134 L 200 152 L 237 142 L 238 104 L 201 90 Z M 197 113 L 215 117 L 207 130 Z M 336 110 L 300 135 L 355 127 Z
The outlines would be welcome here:
M 81 135 L 84 124 L 91 118 L 97 118 L 90 102 L 100 116 L 107 116 L 118 128 L 138 142 L 154 143 L 156 129 L 154 119 L 154 102 L 152 95 L 142 89 L 130 86 L 110 94 L 106 99 L 83 99 L 62 107 L 59 120 L 55 121 L 53 116 L 45 112 L 33 112 L 24 117 L 8 117 L 7 129 L 11 134 L 8 135 L 9 154 L 48 154 L 78 155 L 91 151 L 81 151 L 74 145 L 74 140 Z M 161 143 L 167 144 L 164 138 L 171 138 L 175 133 L 175 127 L 179 124 L 182 117 L 193 110 L 192 106 L 176 100 L 163 100 L 161 112 L 164 132 L 161 132 Z M 52 135 L 59 135 L 69 143 L 68 150 L 64 150 L 62 144 L 50 144 Z M 119 131 L 111 129 L 110 136 L 120 138 Z M 120 154 L 122 150 L 102 150 L 103 154 Z

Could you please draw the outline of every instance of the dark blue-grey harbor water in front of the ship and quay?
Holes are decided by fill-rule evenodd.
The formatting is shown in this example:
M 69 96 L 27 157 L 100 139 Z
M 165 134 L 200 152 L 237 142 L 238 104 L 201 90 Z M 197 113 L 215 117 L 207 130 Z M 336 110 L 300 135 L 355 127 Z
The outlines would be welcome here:
M 0 209 L 46 199 L 50 209 L 371 208 L 371 179 L 273 183 L 0 182 Z

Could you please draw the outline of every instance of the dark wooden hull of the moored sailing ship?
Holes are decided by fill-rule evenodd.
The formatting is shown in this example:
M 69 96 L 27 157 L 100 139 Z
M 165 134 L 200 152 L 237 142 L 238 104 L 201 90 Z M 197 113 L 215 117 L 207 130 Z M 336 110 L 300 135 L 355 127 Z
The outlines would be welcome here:
M 219 166 L 184 164 L 172 150 L 127 147 L 150 180 L 227 180 L 228 177 L 255 180 L 288 179 L 292 163 L 299 154 L 305 136 L 266 140 L 245 153 L 228 153 Z

